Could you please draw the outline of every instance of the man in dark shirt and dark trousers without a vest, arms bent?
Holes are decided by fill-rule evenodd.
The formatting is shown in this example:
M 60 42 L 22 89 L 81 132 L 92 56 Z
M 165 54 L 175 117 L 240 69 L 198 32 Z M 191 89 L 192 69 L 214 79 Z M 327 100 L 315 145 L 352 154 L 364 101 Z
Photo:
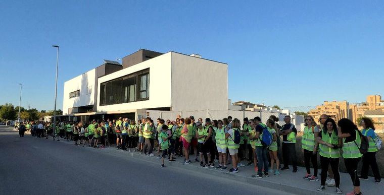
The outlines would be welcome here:
M 281 126 L 280 129 L 280 136 L 282 136 L 282 158 L 284 161 L 284 167 L 281 168 L 281 170 L 289 169 L 289 162 L 292 161 L 293 171 L 294 173 L 297 172 L 297 161 L 296 161 L 296 148 L 295 148 L 295 141 L 292 142 L 292 140 L 287 140 L 288 135 L 291 132 L 295 133 L 295 137 L 297 135 L 297 129 L 294 124 L 291 123 L 291 116 L 286 115 L 284 117 L 285 124 Z

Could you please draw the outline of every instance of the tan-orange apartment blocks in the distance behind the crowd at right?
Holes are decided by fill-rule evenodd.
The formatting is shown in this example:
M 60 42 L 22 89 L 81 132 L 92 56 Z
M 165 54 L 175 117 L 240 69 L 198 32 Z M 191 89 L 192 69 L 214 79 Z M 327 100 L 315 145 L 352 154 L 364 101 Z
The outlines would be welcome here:
M 327 114 L 335 120 L 349 118 L 355 123 L 359 117 L 367 116 L 375 122 L 376 129 L 383 129 L 384 101 L 381 100 L 380 95 L 369 95 L 366 100 L 356 104 L 350 104 L 347 101 L 324 101 L 323 105 L 310 110 L 308 115 L 313 116 L 315 121 L 319 120 L 321 114 Z

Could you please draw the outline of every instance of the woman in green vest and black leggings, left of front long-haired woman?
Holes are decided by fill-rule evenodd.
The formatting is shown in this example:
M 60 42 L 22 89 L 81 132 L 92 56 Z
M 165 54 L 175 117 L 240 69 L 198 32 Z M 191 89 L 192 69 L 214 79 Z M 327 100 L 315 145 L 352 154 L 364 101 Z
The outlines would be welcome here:
M 319 128 L 312 116 L 305 117 L 304 134 L 301 138 L 301 150 L 304 153 L 304 165 L 307 173 L 303 179 L 310 181 L 318 181 L 317 177 L 317 136 L 319 136 Z M 310 161 L 312 161 L 313 175 L 311 175 Z

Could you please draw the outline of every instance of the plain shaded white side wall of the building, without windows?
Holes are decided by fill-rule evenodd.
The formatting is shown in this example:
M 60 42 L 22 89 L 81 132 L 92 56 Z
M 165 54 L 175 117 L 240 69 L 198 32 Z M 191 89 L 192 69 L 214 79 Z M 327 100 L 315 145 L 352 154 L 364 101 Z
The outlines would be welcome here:
M 172 111 L 228 109 L 228 65 L 172 52 Z

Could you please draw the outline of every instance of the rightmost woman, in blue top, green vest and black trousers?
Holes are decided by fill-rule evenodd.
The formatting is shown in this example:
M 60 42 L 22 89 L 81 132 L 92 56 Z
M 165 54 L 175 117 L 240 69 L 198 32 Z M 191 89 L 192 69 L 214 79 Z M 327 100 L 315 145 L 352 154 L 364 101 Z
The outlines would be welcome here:
M 361 133 L 368 138 L 369 148 L 368 152 L 363 154 L 363 166 L 361 167 L 360 179 L 368 179 L 369 165 L 372 168 L 373 176 L 375 177 L 376 183 L 381 183 L 380 172 L 378 171 L 376 162 L 376 152 L 378 151 L 373 139 L 376 138 L 375 126 L 369 118 L 363 117 L 360 125 L 363 127 Z

